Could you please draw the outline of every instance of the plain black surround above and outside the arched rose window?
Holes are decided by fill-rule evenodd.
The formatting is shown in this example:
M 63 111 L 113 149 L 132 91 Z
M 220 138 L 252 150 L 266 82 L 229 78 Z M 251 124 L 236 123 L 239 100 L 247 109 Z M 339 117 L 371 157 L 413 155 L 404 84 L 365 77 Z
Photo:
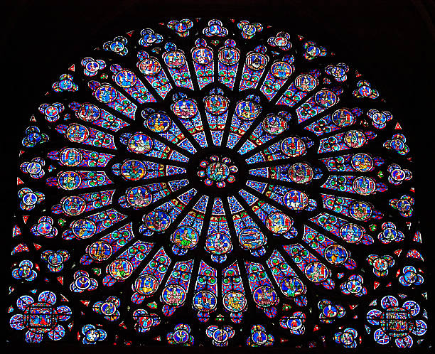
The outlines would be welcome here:
M 6 25 L 1 41 L 1 57 L 6 60 L 1 67 L 1 75 L 6 92 L 1 94 L 0 153 L 4 161 L 2 174 L 6 177 L 1 202 L 6 210 L 1 224 L 2 237 L 6 240 L 11 235 L 11 217 L 16 205 L 16 156 L 23 130 L 28 126 L 31 114 L 36 113 L 43 94 L 50 90 L 60 74 L 81 58 L 84 50 L 87 52 L 114 36 L 141 28 L 144 21 L 246 16 L 271 25 L 279 23 L 288 28 L 289 33 L 299 33 L 339 52 L 380 91 L 394 117 L 401 122 L 402 132 L 409 141 L 410 154 L 414 159 L 415 209 L 421 220 L 423 242 L 427 245 L 425 256 L 428 264 L 433 263 L 433 255 L 429 251 L 434 243 L 431 239 L 434 237 L 432 220 L 435 209 L 433 2 L 19 0 L 9 1 L 6 5 L 6 9 L 1 6 Z M 14 207 L 9 208 L 9 205 Z M 9 254 L 9 250 L 10 247 L 6 247 L 5 252 Z M 9 269 L 9 264 L 6 269 Z M 429 282 L 431 278 L 431 274 L 426 274 Z M 429 312 L 429 316 L 431 313 L 433 311 Z M 48 349 L 50 345 L 44 344 L 44 347 Z M 67 347 L 62 350 L 73 353 L 77 349 Z M 81 351 L 91 349 L 95 350 L 80 348 Z M 8 350 L 11 351 L 11 348 Z M 103 350 L 115 353 L 127 348 Z M 183 350 L 190 353 L 201 348 Z M 232 350 L 240 351 L 242 348 Z M 136 348 L 134 353 L 144 351 L 143 348 Z M 389 349 L 389 352 L 392 351 Z

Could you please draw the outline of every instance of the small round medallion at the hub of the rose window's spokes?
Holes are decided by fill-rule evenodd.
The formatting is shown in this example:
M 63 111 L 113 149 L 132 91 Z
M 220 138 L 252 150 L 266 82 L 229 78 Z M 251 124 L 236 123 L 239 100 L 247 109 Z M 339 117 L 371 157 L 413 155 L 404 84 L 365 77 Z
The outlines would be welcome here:
M 226 186 L 226 183 L 235 181 L 234 173 L 237 171 L 237 166 L 229 157 L 212 155 L 200 162 L 198 176 L 206 186 L 216 184 L 217 187 L 222 188 Z

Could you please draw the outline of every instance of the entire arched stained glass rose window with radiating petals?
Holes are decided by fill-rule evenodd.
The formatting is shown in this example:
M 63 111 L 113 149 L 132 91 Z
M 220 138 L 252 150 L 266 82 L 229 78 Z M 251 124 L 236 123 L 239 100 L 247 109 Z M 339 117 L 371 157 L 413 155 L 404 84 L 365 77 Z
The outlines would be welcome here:
M 21 136 L 9 341 L 424 346 L 412 146 L 327 44 L 179 18 L 53 77 Z

